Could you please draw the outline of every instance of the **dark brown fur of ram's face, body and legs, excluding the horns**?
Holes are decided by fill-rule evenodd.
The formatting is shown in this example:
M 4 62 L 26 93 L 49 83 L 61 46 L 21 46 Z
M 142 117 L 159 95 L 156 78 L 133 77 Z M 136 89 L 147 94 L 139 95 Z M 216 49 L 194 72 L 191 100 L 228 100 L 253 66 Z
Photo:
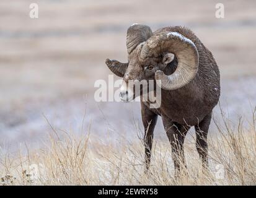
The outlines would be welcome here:
M 151 158 L 152 137 L 157 115 L 162 117 L 162 123 L 166 129 L 167 137 L 172 146 L 175 170 L 180 170 L 180 161 L 184 161 L 183 142 L 190 127 L 195 126 L 196 149 L 200 154 L 203 165 L 207 165 L 207 141 L 208 128 L 211 121 L 211 113 L 218 103 L 220 95 L 219 69 L 211 52 L 201 43 L 196 35 L 185 27 L 166 27 L 156 30 L 153 34 L 162 32 L 178 32 L 192 40 L 199 54 L 198 73 L 195 78 L 182 88 L 177 90 L 162 89 L 161 107 L 149 108 L 148 102 L 141 102 L 141 116 L 145 128 L 145 161 L 146 170 L 149 168 Z M 149 80 L 154 79 L 154 72 L 164 68 L 166 75 L 172 74 L 177 67 L 177 59 L 166 67 L 162 66 L 162 56 L 151 57 L 145 60 L 139 59 L 143 43 L 138 45 L 129 56 L 129 64 L 123 80 Z M 145 66 L 153 65 L 152 71 L 146 71 Z M 141 100 L 142 101 L 142 100 Z

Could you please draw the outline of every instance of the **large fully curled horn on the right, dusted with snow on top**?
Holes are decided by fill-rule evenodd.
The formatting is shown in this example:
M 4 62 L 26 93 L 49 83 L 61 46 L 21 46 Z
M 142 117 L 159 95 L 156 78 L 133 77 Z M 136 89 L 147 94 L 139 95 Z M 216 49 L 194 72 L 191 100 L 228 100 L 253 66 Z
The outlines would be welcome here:
M 174 53 L 178 59 L 175 72 L 165 75 L 162 71 L 156 71 L 156 80 L 161 88 L 175 90 L 187 85 L 198 71 L 198 51 L 195 44 L 177 32 L 165 32 L 149 38 L 141 49 L 141 59 L 158 57 L 161 53 Z

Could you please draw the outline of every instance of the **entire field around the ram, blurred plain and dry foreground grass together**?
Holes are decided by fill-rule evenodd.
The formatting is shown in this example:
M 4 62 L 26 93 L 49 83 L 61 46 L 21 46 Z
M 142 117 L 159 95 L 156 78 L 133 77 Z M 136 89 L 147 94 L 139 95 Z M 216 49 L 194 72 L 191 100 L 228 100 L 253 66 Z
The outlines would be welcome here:
M 29 17 L 32 2 L 38 19 Z M 218 2 L 1 0 L 0 185 L 255 185 L 256 2 L 222 1 L 225 17 L 216 19 Z M 208 173 L 191 130 L 188 174 L 174 178 L 159 118 L 144 174 L 139 103 L 94 100 L 95 80 L 111 74 L 105 59 L 126 61 L 134 23 L 185 25 L 218 63 Z

